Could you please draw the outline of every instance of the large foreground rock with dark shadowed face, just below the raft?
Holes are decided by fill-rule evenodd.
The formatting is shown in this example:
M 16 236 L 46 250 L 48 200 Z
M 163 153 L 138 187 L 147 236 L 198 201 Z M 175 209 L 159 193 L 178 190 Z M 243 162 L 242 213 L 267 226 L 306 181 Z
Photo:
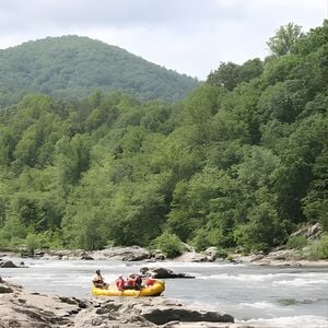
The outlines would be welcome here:
M 180 302 L 166 297 L 115 298 L 104 300 L 102 303 L 80 312 L 74 320 L 78 327 L 92 327 L 103 323 L 104 327 L 157 327 L 168 323 L 181 324 L 184 327 L 194 327 L 195 323 L 234 323 L 230 315 L 219 312 L 207 312 L 183 305 Z M 105 326 L 105 323 L 113 326 Z M 190 326 L 185 326 L 190 323 Z M 87 326 L 89 325 L 89 326 Z M 102 326 L 103 327 L 103 326 Z M 166 327 L 166 326 L 165 326 Z M 198 326 L 197 326 L 198 327 Z M 200 327 L 200 326 L 199 326 Z M 223 327 L 223 326 L 220 326 Z M 230 325 L 224 326 L 225 328 Z

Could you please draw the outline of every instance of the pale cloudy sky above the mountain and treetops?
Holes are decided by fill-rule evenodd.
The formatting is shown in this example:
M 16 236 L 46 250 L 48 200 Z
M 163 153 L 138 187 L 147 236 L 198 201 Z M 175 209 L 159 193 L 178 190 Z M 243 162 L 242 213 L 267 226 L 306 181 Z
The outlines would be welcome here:
M 268 56 L 281 25 L 307 32 L 327 12 L 328 0 L 0 0 L 0 49 L 89 36 L 204 80 L 222 61 Z

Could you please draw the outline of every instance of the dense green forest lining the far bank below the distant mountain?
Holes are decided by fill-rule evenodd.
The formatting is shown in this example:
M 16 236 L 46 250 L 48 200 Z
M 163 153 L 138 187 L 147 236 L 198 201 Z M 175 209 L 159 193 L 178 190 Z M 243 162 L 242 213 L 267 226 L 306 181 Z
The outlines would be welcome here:
M 174 256 L 180 242 L 267 251 L 302 224 L 327 232 L 328 21 L 268 45 L 178 103 L 97 91 L 2 107 L 0 246 Z

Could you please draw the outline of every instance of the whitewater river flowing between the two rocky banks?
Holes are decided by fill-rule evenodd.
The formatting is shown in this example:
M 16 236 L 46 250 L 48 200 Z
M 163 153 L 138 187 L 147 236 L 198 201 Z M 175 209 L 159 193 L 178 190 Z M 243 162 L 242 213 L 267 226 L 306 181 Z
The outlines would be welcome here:
M 8 259 L 8 258 L 7 258 Z M 22 259 L 12 258 L 16 263 Z M 233 263 L 121 262 L 24 259 L 28 268 L 0 268 L 0 276 L 31 291 L 91 297 L 91 278 L 107 282 L 141 267 L 164 267 L 196 279 L 167 279 L 164 295 L 200 308 L 222 311 L 237 321 L 270 328 L 328 327 L 328 270 Z

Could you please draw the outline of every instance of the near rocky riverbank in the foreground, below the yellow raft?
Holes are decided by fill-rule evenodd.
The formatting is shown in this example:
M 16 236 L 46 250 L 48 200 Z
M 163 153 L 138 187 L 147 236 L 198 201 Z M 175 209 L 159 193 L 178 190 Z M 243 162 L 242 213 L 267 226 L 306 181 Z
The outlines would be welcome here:
M 0 318 L 0 328 L 251 328 L 234 323 L 227 314 L 192 308 L 166 297 L 78 300 L 28 292 L 2 280 Z

